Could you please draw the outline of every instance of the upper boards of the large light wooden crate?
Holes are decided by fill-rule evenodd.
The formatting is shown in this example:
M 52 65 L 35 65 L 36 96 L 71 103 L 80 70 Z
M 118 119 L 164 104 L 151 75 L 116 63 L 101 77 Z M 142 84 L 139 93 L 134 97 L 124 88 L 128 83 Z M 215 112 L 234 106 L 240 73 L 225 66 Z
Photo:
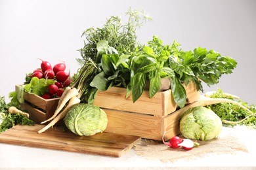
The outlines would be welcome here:
M 200 92 L 196 90 L 196 84 L 190 82 L 184 85 L 187 102 L 194 103 L 200 99 Z M 95 105 L 102 109 L 113 109 L 154 116 L 167 116 L 175 112 L 178 106 L 173 99 L 171 90 L 159 91 L 154 97 L 149 97 L 149 92 L 144 90 L 140 98 L 133 103 L 131 95 L 126 98 L 126 88 L 112 87 L 106 91 L 98 91 L 95 96 Z

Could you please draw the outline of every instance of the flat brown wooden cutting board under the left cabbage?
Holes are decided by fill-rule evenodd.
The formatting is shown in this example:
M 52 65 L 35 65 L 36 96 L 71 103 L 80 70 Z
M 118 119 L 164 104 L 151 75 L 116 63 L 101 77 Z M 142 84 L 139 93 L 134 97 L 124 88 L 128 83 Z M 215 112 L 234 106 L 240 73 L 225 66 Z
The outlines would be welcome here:
M 140 137 L 115 133 L 96 133 L 93 136 L 79 136 L 62 127 L 50 128 L 44 133 L 37 131 L 44 127 L 17 125 L 0 133 L 0 143 L 18 144 L 54 150 L 98 154 L 119 157 L 133 148 Z

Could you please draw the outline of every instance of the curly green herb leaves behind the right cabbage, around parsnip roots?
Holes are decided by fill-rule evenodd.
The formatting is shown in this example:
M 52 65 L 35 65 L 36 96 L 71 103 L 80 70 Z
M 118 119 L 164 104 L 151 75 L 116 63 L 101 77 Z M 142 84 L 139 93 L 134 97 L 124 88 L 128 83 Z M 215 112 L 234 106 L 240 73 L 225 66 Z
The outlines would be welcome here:
M 212 98 L 227 98 L 231 100 L 236 100 L 231 95 L 225 95 L 221 89 L 218 89 L 216 93 L 213 93 L 211 96 Z M 242 101 L 242 99 L 239 99 L 238 102 L 245 107 L 247 107 L 252 112 L 256 112 L 256 105 L 248 105 L 248 103 Z M 209 105 L 207 108 L 213 110 L 220 118 L 221 120 L 230 120 L 230 121 L 239 121 L 243 118 L 250 115 L 249 112 L 247 112 L 244 109 L 241 109 L 240 107 L 233 105 L 231 103 L 219 103 L 215 105 Z M 251 126 L 256 128 L 256 116 L 251 116 L 244 120 L 241 125 L 245 126 Z M 229 124 L 226 124 L 229 125 Z M 230 126 L 234 126 L 230 124 Z

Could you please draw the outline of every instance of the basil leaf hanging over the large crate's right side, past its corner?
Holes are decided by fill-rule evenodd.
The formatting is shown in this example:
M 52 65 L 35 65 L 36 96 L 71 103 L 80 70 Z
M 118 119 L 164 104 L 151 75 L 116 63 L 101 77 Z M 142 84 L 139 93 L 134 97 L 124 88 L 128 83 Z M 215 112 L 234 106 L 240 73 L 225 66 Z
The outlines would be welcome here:
M 171 92 L 177 105 L 181 108 L 184 107 L 186 105 L 186 90 L 175 76 L 171 77 Z

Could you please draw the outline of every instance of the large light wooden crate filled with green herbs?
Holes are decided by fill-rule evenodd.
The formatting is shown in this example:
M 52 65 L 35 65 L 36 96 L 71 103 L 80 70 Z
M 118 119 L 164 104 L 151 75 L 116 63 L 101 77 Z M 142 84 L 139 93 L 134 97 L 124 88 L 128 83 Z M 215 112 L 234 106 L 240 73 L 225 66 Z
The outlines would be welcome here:
M 179 134 L 179 119 L 182 112 L 199 105 L 197 101 L 200 99 L 200 92 L 196 90 L 196 84 L 190 82 L 184 88 L 188 105 L 182 109 L 178 109 L 171 90 L 158 92 L 152 99 L 149 98 L 148 91 L 144 91 L 133 103 L 131 96 L 125 97 L 126 89 L 119 87 L 98 92 L 94 104 L 108 115 L 106 132 L 155 140 L 161 140 L 165 133 L 167 140 Z

